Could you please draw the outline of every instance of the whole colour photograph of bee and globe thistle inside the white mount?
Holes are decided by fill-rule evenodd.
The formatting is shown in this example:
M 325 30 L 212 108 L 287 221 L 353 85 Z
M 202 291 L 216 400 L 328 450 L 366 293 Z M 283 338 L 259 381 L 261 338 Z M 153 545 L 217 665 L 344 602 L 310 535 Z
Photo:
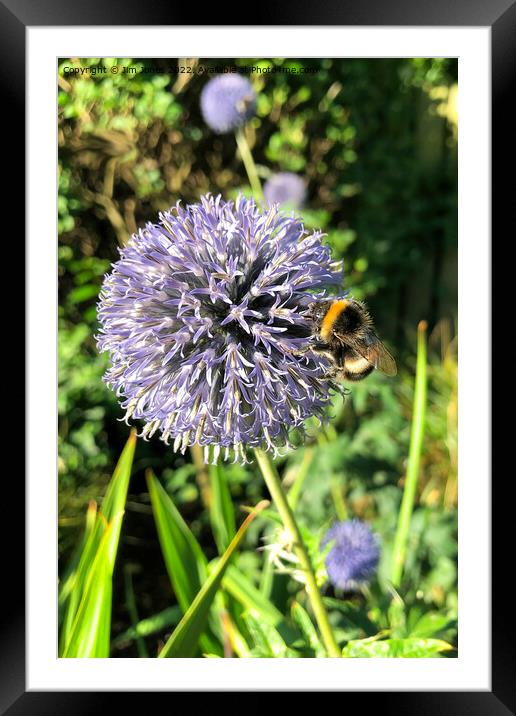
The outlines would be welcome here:
M 460 658 L 458 59 L 56 81 L 56 657 Z

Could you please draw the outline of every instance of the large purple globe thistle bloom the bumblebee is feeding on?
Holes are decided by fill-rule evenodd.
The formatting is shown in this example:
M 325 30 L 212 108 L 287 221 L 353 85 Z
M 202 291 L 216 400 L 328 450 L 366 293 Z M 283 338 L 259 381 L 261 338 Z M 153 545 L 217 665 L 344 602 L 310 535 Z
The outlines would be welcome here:
M 126 421 L 175 450 L 245 461 L 247 447 L 277 454 L 292 428 L 324 419 L 337 385 L 303 312 L 342 272 L 321 237 L 276 207 L 210 195 L 133 235 L 98 304 Z

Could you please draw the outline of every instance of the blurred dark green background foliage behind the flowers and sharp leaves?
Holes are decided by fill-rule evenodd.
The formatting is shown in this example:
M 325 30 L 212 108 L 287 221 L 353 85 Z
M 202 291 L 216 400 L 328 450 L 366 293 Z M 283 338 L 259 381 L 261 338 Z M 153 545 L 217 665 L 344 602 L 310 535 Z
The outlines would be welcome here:
M 115 64 L 127 71 L 98 72 Z M 88 504 L 100 502 L 128 437 L 116 399 L 102 383 L 106 357 L 97 354 L 94 342 L 96 299 L 117 245 L 178 200 L 196 201 L 208 191 L 225 197 L 249 191 L 234 137 L 214 135 L 200 115 L 207 73 L 177 71 L 210 64 L 60 61 L 62 575 L 82 539 Z M 381 538 L 378 584 L 369 601 L 357 595 L 334 605 L 340 628 L 348 639 L 381 628 L 394 636 L 419 629 L 421 636 L 437 634 L 456 643 L 456 61 L 217 60 L 224 64 L 316 70 L 251 75 L 258 107 L 247 137 L 262 179 L 275 171 L 306 179 L 305 223 L 327 232 L 334 253 L 344 259 L 346 286 L 367 298 L 400 368 L 394 380 L 373 375 L 354 385 L 345 405 L 336 401 L 330 427 L 323 433 L 314 428 L 307 446 L 280 464 L 287 484 L 299 464 L 306 472 L 297 514 L 310 534 L 321 534 L 335 518 L 357 516 L 371 521 Z M 70 75 L 65 70 L 70 67 L 85 71 Z M 431 331 L 427 426 L 399 607 L 387 575 L 408 452 L 420 319 Z M 208 560 L 228 543 L 220 523 L 213 529 L 217 480 L 189 455 L 175 455 L 156 439 L 138 441 L 114 567 L 112 656 L 141 656 L 142 649 L 155 655 L 181 615 L 181 598 L 171 588 L 159 549 L 144 476 L 148 469 L 160 478 Z M 223 479 L 240 523 L 239 506 L 267 496 L 262 479 L 255 466 L 228 466 Z M 256 550 L 270 529 L 258 516 L 235 564 L 256 587 L 269 579 L 268 593 L 285 613 L 292 605 L 292 584 L 264 572 L 264 553 Z M 335 595 L 328 590 L 327 597 Z M 153 626 L 163 610 L 167 617 Z M 144 618 L 150 619 L 149 634 L 134 639 L 127 630 Z M 243 627 L 256 643 L 258 627 Z M 270 648 L 270 639 L 260 643 Z

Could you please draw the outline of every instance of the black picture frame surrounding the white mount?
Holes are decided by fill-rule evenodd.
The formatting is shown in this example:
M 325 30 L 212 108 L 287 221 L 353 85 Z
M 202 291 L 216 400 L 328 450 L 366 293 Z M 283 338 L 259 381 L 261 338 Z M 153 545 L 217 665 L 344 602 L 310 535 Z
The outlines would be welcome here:
M 161 0 L 88 0 L 72 3 L 70 0 L 3 0 L 0 2 L 0 83 L 2 87 L 2 121 L 4 137 L 15 148 L 9 162 L 9 181 L 4 191 L 5 214 L 17 217 L 19 234 L 30 207 L 24 206 L 25 167 L 25 41 L 27 26 L 59 25 L 195 25 L 202 15 L 202 25 L 390 25 L 390 26 L 485 26 L 492 32 L 492 236 L 502 236 L 509 227 L 510 213 L 514 203 L 511 182 L 505 180 L 514 172 L 514 120 L 509 112 L 509 94 L 516 86 L 516 4 L 510 0 L 331 0 L 324 5 L 297 0 L 274 4 L 262 0 L 247 15 L 242 14 L 242 4 L 228 2 L 203 4 L 199 8 L 185 8 Z M 197 17 L 196 17 L 197 16 Z M 234 20 L 233 22 L 231 20 Z M 504 171 L 505 170 L 505 171 Z M 6 216 L 7 218 L 7 216 Z M 9 224 L 5 226 L 8 227 Z M 4 230 L 7 230 L 4 226 Z M 8 237 L 7 237 L 8 238 Z M 504 237 L 507 238 L 506 236 Z M 502 244 L 503 245 L 503 244 Z M 15 247 L 15 263 L 20 264 L 20 246 Z M 13 259 L 14 260 L 14 259 Z M 500 285 L 498 282 L 497 285 Z M 489 287 L 484 295 L 489 297 Z M 499 288 L 493 286 L 492 299 L 496 300 Z M 20 292 L 21 293 L 21 292 Z M 10 319 L 19 324 L 18 311 L 8 309 Z M 13 315 L 14 313 L 14 315 Z M 498 319 L 501 320 L 501 319 Z M 493 331 L 497 319 L 493 317 Z M 36 347 L 28 346 L 29 350 Z M 21 352 L 21 351 L 19 351 Z M 12 359 L 12 356 L 10 356 Z M 19 361 L 19 356 L 16 357 Z M 19 401 L 22 404 L 22 401 Z M 7 444 L 4 444 L 7 447 Z M 4 448 L 5 449 L 5 448 Z M 27 446 L 30 450 L 30 445 Z M 16 466 L 18 468 L 18 465 Z M 24 485 L 19 469 L 9 468 L 8 487 L 12 505 L 24 504 Z M 7 478 L 7 473 L 5 475 Z M 510 479 L 510 475 L 507 474 Z M 507 499 L 505 486 L 493 481 L 492 529 L 492 691 L 460 692 L 348 692 L 342 695 L 342 708 L 350 709 L 359 704 L 375 708 L 379 713 L 397 714 L 468 714 L 474 716 L 497 716 L 515 713 L 514 689 L 515 650 L 514 629 L 511 630 L 508 607 L 510 597 L 506 593 L 507 560 L 513 555 L 510 548 L 509 510 L 512 502 Z M 7 512 L 4 505 L 4 511 Z M 12 530 L 5 518 L 0 520 L 2 530 Z M 26 692 L 25 686 L 25 572 L 24 531 L 22 515 L 16 515 L 16 540 L 4 536 L 3 596 L 6 606 L 1 610 L 0 640 L 0 713 L 18 714 L 91 714 L 120 708 L 124 693 L 111 692 Z M 474 596 L 472 597 L 474 598 Z M 512 633 L 511 633 L 512 632 Z M 410 684 L 407 684 L 410 688 Z M 138 707 L 150 694 L 129 694 L 132 707 Z M 156 694 L 168 699 L 170 708 L 177 705 L 177 694 Z M 243 696 L 245 698 L 245 696 Z M 116 699 L 116 701 L 115 701 Z M 242 704 L 243 705 L 243 704 Z M 376 710 L 375 709 L 375 710 Z

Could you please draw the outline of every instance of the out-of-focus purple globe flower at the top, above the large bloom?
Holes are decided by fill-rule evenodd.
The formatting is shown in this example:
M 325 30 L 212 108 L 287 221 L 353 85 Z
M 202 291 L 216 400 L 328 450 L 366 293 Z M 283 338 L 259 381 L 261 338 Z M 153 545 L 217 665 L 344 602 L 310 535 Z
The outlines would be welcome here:
M 256 109 L 256 94 L 242 75 L 221 75 L 210 80 L 201 93 L 201 111 L 206 124 L 218 134 L 245 124 Z

